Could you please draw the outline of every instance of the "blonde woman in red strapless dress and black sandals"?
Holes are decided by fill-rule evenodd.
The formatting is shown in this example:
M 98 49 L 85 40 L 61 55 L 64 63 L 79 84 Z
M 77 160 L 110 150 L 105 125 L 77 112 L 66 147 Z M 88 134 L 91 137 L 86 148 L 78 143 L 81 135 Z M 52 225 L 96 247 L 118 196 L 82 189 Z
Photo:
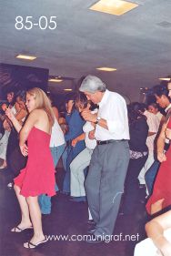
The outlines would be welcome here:
M 34 236 L 24 243 L 25 248 L 32 249 L 46 241 L 42 230 L 38 196 L 41 194 L 47 194 L 50 197 L 55 195 L 55 167 L 49 148 L 54 114 L 49 99 L 40 88 L 27 91 L 25 104 L 29 116 L 23 128 L 10 111 L 6 112 L 16 130 L 21 129 L 20 149 L 24 156 L 28 155 L 26 167 L 15 178 L 14 187 L 22 218 L 21 222 L 11 231 L 20 232 L 33 228 Z

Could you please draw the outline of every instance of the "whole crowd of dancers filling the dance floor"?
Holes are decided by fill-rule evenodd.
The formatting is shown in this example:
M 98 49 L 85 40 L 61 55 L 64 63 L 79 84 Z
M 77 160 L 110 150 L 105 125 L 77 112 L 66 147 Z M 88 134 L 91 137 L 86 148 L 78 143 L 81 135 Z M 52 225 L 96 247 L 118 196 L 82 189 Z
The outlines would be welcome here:
M 34 230 L 25 248 L 47 241 L 41 214 L 51 212 L 51 198 L 59 190 L 55 167 L 62 158 L 60 192 L 75 202 L 88 202 L 87 242 L 103 242 L 112 235 L 118 213 L 134 217 L 142 188 L 146 211 L 155 219 L 146 224 L 151 240 L 138 243 L 135 256 L 171 255 L 166 237 L 171 228 L 170 91 L 171 82 L 153 87 L 153 102 L 126 106 L 101 79 L 87 76 L 79 92 L 65 97 L 65 118 L 40 88 L 7 93 L 0 169 L 11 170 L 8 186 L 14 186 L 21 209 L 21 220 L 11 231 Z M 162 210 L 167 211 L 159 215 Z

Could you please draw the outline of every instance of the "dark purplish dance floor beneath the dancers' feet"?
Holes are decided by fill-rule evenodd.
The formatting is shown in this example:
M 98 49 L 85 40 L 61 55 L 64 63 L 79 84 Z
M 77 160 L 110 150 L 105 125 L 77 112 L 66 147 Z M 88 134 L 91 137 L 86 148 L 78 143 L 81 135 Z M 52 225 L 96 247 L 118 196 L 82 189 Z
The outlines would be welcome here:
M 58 185 L 63 178 L 62 169 L 57 170 Z M 139 203 L 134 216 L 119 215 L 116 221 L 115 241 L 100 244 L 88 244 L 85 241 L 47 241 L 37 249 L 23 247 L 32 237 L 33 230 L 21 233 L 10 232 L 20 221 L 19 206 L 14 189 L 6 187 L 9 170 L 0 172 L 0 256 L 133 256 L 137 242 L 145 237 L 145 205 Z M 43 228 L 46 235 L 81 235 L 86 233 L 87 204 L 69 201 L 68 197 L 58 193 L 53 198 L 51 215 L 43 216 Z M 119 241 L 120 237 L 126 240 Z M 129 236 L 131 236 L 131 239 Z M 75 239 L 75 238 L 74 238 Z

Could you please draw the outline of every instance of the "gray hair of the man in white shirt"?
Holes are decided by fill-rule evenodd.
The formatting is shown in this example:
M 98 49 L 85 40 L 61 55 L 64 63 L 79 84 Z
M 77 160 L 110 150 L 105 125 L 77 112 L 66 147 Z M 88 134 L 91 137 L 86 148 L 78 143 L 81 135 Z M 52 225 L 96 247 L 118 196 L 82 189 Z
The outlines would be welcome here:
M 105 92 L 106 91 L 106 84 L 102 82 L 102 80 L 98 77 L 88 75 L 85 77 L 81 86 L 79 87 L 79 91 L 81 92 L 89 92 L 89 93 L 96 93 L 96 91 Z

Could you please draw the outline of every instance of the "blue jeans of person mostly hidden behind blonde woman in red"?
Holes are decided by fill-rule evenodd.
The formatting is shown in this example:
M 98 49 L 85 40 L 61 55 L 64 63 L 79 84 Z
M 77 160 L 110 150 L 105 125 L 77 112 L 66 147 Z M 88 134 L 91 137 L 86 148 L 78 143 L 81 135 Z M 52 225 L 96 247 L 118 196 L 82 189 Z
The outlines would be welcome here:
M 54 160 L 54 165 L 56 167 L 58 160 L 60 159 L 61 155 L 63 154 L 65 150 L 65 144 L 58 146 L 58 147 L 53 147 L 50 148 L 52 157 Z M 55 184 L 55 191 L 58 191 L 57 184 Z M 46 196 L 45 194 L 42 194 L 38 197 L 38 202 L 40 205 L 40 210 L 43 214 L 50 214 L 51 213 L 51 197 Z

